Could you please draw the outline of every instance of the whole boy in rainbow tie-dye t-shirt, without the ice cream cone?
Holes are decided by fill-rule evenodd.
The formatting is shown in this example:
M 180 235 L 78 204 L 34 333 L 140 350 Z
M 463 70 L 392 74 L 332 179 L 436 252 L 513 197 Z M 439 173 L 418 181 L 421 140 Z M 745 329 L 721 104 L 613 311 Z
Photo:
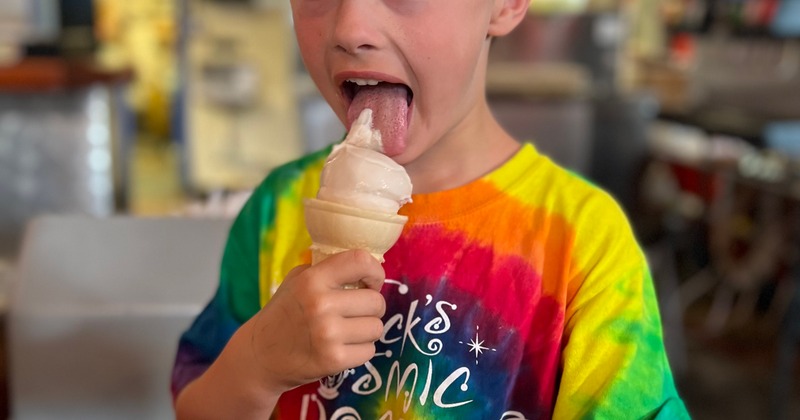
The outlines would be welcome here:
M 292 0 L 322 95 L 347 124 L 371 107 L 408 171 L 409 221 L 383 265 L 306 265 L 330 150 L 273 171 L 181 339 L 179 418 L 688 418 L 622 212 L 487 106 L 491 40 L 528 2 Z

